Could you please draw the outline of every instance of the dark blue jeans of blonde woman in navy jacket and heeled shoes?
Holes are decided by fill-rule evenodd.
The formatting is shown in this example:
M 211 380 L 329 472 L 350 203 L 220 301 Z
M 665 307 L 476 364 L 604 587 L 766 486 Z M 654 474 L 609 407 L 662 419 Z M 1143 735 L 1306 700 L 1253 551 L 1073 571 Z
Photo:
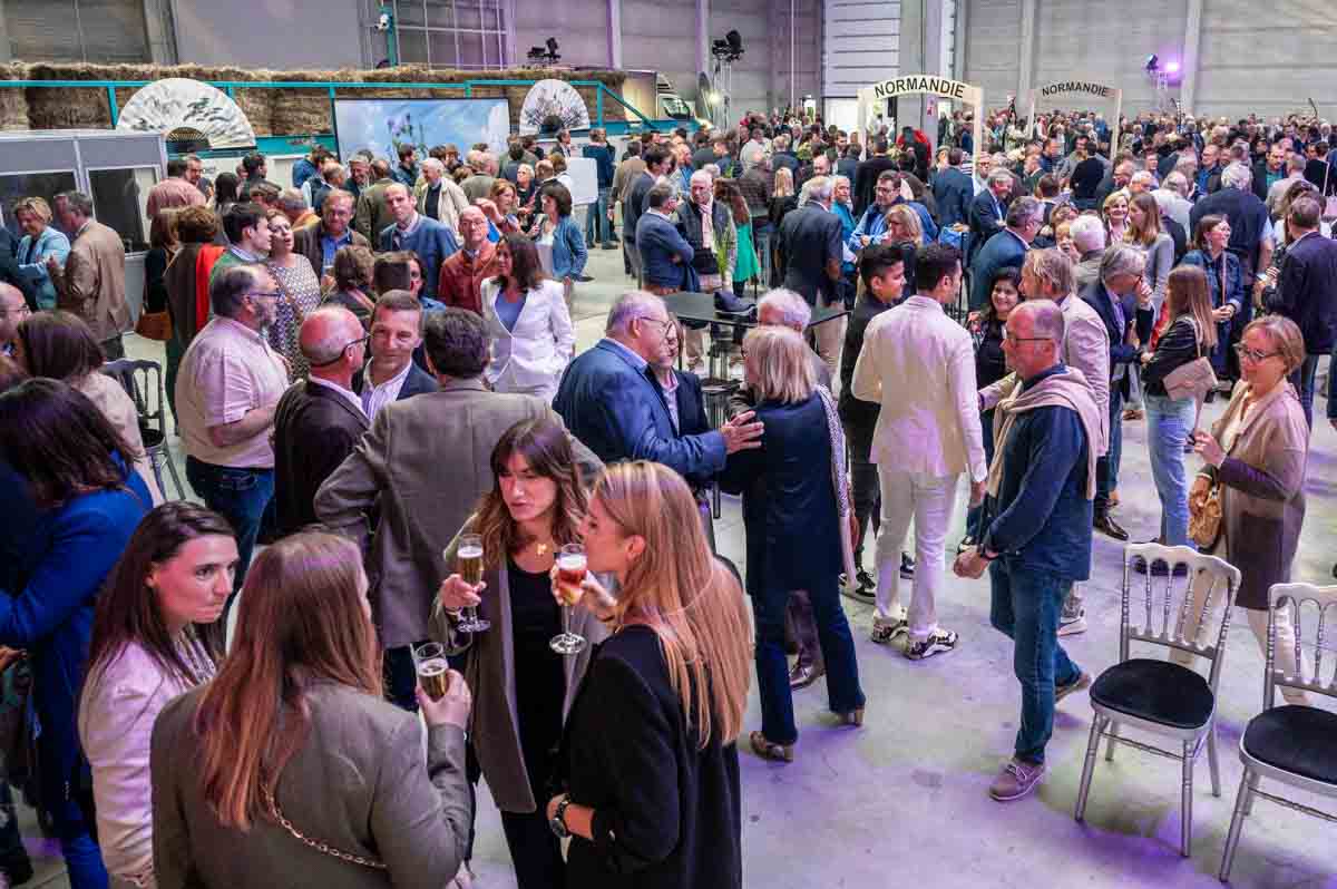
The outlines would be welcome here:
M 854 660 L 854 636 L 840 607 L 834 576 L 821 587 L 808 590 L 817 619 L 817 642 L 826 662 L 826 701 L 832 713 L 864 706 Z M 794 698 L 789 691 L 789 662 L 785 659 L 785 604 L 789 590 L 762 588 L 753 596 L 757 622 L 757 686 L 761 694 L 761 733 L 771 743 L 790 745 L 798 739 L 794 726 Z

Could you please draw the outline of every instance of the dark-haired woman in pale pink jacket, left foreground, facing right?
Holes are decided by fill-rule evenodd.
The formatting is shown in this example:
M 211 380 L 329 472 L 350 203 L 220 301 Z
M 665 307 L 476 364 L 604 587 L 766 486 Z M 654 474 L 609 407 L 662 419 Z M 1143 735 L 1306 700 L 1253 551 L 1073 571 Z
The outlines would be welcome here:
M 144 516 L 98 598 L 79 739 L 112 885 L 155 885 L 154 721 L 168 701 L 214 678 L 222 651 L 198 630 L 222 615 L 235 569 L 227 520 L 178 500 Z

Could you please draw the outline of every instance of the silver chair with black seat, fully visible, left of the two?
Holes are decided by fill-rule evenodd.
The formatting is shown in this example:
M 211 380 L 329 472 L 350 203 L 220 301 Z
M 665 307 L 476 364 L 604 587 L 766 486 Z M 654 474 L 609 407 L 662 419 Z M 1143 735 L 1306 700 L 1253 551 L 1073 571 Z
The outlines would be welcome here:
M 1144 575 L 1134 575 L 1138 560 L 1146 560 Z M 1158 563 L 1165 565 L 1163 569 Z M 1185 571 L 1177 571 L 1185 565 Z M 1177 574 L 1187 574 L 1179 580 Z M 1131 580 L 1140 587 L 1134 602 Z M 1100 738 L 1108 738 L 1106 759 L 1114 759 L 1116 742 L 1183 763 L 1179 852 L 1189 857 L 1193 845 L 1193 767 L 1207 747 L 1211 793 L 1221 795 L 1221 770 L 1217 761 L 1217 686 L 1225 654 L 1230 610 L 1239 588 L 1239 571 L 1215 556 L 1205 556 L 1189 547 L 1162 547 L 1154 543 L 1130 544 L 1123 551 L 1123 599 L 1119 626 L 1119 663 L 1110 667 L 1091 686 L 1091 739 L 1087 742 L 1082 786 L 1078 790 L 1076 819 L 1086 817 L 1087 794 Z M 1177 604 L 1178 598 L 1178 604 Z M 1219 610 L 1217 606 L 1221 604 Z M 1219 628 L 1210 627 L 1219 614 Z M 1163 646 L 1170 652 L 1183 651 L 1210 663 L 1206 678 L 1189 667 L 1154 658 L 1134 658 L 1131 643 Z M 1171 738 L 1178 750 L 1161 747 L 1119 735 L 1120 727 L 1136 729 Z

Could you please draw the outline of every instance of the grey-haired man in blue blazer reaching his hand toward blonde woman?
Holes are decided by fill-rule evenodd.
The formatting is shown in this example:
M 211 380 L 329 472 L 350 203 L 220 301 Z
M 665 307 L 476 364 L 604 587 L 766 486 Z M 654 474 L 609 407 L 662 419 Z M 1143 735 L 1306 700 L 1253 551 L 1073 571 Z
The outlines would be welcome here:
M 552 409 L 571 434 L 606 464 L 654 460 L 678 473 L 710 477 L 735 451 L 759 448 L 762 433 L 743 413 L 699 434 L 679 436 L 652 364 L 671 350 L 663 299 L 632 290 L 608 311 L 604 338 L 567 366 Z

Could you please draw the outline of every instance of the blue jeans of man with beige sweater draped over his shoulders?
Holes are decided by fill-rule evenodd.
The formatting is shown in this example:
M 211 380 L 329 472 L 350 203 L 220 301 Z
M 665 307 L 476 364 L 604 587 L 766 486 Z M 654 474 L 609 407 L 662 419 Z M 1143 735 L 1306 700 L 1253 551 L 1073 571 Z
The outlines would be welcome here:
M 989 565 L 989 623 L 1012 639 L 1012 671 L 1021 683 L 1021 726 L 1016 758 L 1044 762 L 1054 734 L 1054 686 L 1078 680 L 1082 671 L 1059 644 L 1059 612 L 1072 582 L 1016 560 Z

